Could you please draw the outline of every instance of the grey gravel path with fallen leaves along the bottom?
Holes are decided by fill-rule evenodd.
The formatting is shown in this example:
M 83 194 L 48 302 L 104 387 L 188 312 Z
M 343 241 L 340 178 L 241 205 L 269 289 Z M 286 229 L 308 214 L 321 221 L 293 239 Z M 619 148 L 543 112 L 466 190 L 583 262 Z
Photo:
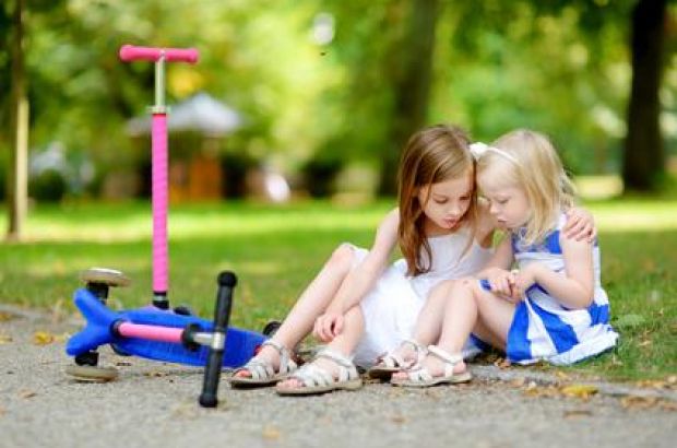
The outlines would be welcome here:
M 311 398 L 222 382 L 219 408 L 204 410 L 200 369 L 106 347 L 120 377 L 76 382 L 63 373 L 63 334 L 78 325 L 7 306 L 0 317 L 0 447 L 673 447 L 677 437 L 674 391 L 597 384 L 599 393 L 569 398 L 556 378 L 492 366 L 474 368 L 470 385 Z M 57 340 L 36 344 L 37 331 Z

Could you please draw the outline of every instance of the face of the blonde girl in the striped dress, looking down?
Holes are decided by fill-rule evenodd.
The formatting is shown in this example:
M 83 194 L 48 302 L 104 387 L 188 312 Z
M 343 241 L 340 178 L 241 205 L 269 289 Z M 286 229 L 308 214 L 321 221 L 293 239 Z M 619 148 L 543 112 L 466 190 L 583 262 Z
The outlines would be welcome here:
M 477 185 L 483 196 L 489 200 L 489 212 L 501 227 L 509 229 L 522 227 L 531 215 L 526 192 L 515 185 L 497 179 L 500 177 L 490 169 L 477 176 Z

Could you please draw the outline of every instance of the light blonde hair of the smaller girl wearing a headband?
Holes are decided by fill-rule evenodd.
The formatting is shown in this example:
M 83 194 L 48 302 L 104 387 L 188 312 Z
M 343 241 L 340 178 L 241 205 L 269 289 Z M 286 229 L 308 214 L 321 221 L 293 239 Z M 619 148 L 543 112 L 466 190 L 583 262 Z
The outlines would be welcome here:
M 550 140 L 542 133 L 518 129 L 498 138 L 477 161 L 477 175 L 491 169 L 501 181 L 524 190 L 532 211 L 524 241 L 542 241 L 562 210 L 573 207 L 575 188 Z M 503 153 L 501 153 L 503 152 Z

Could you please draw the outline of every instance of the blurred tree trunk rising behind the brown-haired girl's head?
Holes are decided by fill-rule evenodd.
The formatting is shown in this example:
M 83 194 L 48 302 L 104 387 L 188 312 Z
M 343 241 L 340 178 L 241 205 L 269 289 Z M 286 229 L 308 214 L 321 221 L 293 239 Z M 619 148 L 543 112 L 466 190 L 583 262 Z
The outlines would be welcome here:
M 439 0 L 413 0 L 403 42 L 391 48 L 390 59 L 399 61 L 399 70 L 392 84 L 393 116 L 383 150 L 379 194 L 396 192 L 402 149 L 426 121 L 438 14 Z

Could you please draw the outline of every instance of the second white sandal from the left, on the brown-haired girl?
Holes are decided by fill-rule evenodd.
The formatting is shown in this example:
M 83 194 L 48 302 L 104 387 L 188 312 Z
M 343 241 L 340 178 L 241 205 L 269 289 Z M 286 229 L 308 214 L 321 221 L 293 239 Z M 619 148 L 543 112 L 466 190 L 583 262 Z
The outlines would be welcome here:
M 328 358 L 339 366 L 339 378 L 334 378 L 331 372 L 324 368 L 313 364 L 305 364 L 287 378 L 295 378 L 299 380 L 302 386 L 286 388 L 277 385 L 275 388 L 277 393 L 281 396 L 307 396 L 331 392 L 332 390 L 339 389 L 356 390 L 363 386 L 363 380 L 357 373 L 357 368 L 349 358 L 329 349 L 321 350 L 316 359 L 319 357 Z

